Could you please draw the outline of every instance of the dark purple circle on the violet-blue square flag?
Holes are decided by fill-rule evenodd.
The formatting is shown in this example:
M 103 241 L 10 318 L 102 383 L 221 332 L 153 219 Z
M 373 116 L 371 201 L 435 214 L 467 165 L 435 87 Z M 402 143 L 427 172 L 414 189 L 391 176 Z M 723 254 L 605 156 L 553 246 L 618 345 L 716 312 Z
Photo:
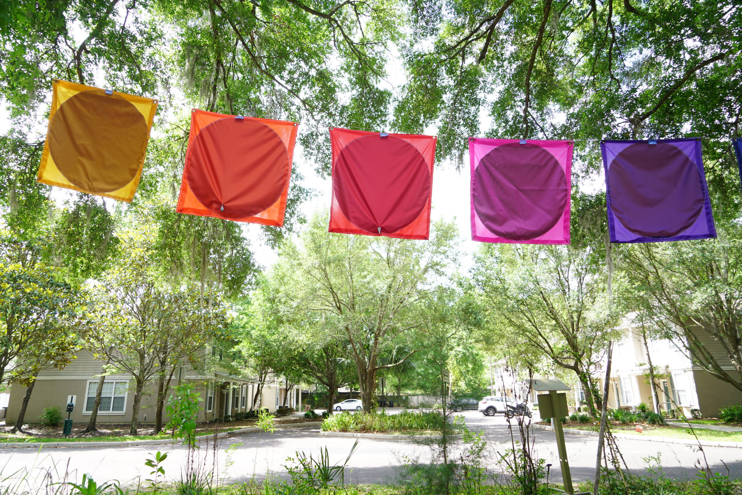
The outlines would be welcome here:
M 700 171 L 672 144 L 629 145 L 608 165 L 611 210 L 643 237 L 674 237 L 695 223 L 706 194 Z

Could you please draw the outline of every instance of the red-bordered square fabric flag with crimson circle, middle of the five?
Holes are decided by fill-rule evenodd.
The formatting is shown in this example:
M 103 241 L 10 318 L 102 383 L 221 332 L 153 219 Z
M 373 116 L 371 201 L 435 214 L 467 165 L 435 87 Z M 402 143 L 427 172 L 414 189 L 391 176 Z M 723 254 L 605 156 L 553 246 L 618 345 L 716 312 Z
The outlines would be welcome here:
M 329 232 L 430 236 L 436 137 L 331 128 Z

